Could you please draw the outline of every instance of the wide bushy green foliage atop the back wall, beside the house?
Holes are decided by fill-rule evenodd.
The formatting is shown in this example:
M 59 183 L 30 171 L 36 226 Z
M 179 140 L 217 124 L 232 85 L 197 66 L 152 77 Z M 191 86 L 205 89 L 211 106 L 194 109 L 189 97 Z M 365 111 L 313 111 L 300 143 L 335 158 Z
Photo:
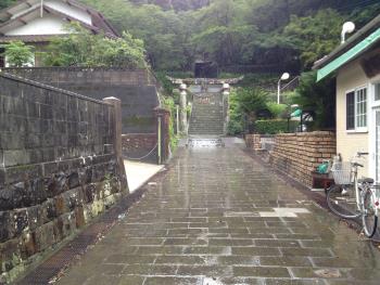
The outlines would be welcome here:
M 123 33 L 122 38 L 111 39 L 104 35 L 92 35 L 73 24 L 71 34 L 56 37 L 43 54 L 47 66 L 113 66 L 145 67 L 143 42 Z

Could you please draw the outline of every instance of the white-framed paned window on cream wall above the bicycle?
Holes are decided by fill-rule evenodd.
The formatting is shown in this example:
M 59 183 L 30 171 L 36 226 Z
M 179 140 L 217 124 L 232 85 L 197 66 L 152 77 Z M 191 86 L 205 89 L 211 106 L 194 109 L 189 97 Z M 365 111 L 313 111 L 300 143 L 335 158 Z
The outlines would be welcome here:
M 367 128 L 367 88 L 346 93 L 346 129 Z

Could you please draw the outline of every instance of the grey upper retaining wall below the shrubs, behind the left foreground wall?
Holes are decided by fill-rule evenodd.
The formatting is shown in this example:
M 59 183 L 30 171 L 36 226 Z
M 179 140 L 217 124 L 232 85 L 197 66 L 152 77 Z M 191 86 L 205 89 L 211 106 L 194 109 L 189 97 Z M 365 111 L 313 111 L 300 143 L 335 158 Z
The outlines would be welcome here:
M 117 98 L 123 106 L 123 133 L 155 132 L 159 83 L 148 69 L 35 67 L 4 70 L 98 100 Z

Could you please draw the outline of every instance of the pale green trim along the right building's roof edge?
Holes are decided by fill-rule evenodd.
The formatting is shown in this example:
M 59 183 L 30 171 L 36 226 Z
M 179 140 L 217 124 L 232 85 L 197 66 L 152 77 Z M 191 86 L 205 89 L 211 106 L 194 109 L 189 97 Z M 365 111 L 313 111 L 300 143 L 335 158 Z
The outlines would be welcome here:
M 349 63 L 363 51 L 367 50 L 370 46 L 377 42 L 380 39 L 380 28 L 375 33 L 369 35 L 363 41 L 357 43 L 354 48 L 349 50 L 346 53 L 343 53 L 341 56 L 333 60 L 331 63 L 325 67 L 318 69 L 317 82 L 322 80 L 325 77 L 329 76 L 331 73 L 335 72 L 338 68 L 342 67 L 344 64 Z

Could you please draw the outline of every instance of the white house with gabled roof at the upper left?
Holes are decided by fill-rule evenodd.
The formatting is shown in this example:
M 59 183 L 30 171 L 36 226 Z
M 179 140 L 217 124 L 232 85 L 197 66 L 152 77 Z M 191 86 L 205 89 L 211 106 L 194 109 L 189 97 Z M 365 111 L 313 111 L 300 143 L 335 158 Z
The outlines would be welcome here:
M 24 0 L 0 11 L 0 44 L 22 40 L 41 51 L 52 37 L 67 34 L 65 26 L 71 22 L 78 22 L 93 34 L 118 37 L 101 13 L 77 1 Z M 4 65 L 0 57 L 0 67 Z M 40 65 L 39 59 L 35 59 L 35 65 Z

